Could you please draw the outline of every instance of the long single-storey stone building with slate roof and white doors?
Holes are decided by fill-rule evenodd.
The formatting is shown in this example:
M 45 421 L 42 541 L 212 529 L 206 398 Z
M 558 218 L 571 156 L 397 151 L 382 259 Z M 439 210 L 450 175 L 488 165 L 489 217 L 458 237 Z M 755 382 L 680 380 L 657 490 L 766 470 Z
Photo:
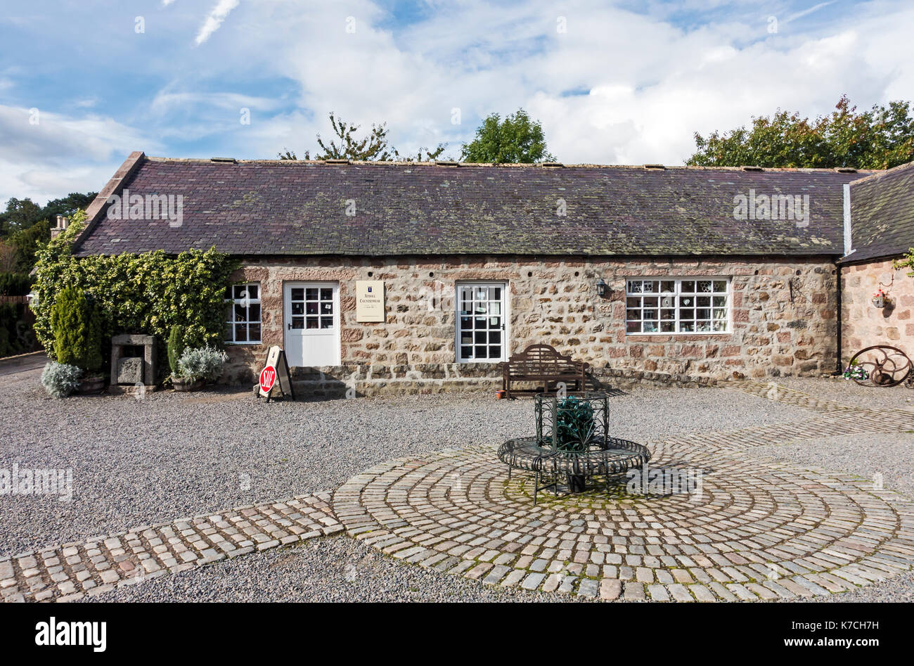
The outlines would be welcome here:
M 226 381 L 253 381 L 271 345 L 309 388 L 358 393 L 494 386 L 537 342 L 611 382 L 824 373 L 848 190 L 893 172 L 870 173 L 138 152 L 75 251 L 238 256 Z

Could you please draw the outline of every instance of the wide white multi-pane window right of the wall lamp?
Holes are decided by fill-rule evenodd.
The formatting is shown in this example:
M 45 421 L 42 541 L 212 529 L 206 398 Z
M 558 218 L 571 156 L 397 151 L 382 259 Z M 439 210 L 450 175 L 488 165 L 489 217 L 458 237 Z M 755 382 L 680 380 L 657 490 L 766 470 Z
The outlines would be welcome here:
M 628 280 L 626 333 L 726 333 L 728 278 Z

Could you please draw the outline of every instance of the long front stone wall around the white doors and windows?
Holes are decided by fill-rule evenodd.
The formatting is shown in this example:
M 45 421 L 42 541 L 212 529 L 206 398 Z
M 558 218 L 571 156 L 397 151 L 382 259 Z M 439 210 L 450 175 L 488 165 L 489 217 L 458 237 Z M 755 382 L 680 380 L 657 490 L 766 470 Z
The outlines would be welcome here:
M 626 335 L 626 278 L 664 275 L 732 277 L 731 331 Z M 600 277 L 608 284 L 604 297 L 595 287 Z M 545 342 L 590 362 L 595 377 L 615 384 L 622 375 L 681 383 L 835 368 L 835 269 L 821 258 L 270 258 L 246 260 L 233 279 L 260 282 L 263 344 L 229 347 L 225 380 L 232 382 L 255 381 L 267 347 L 282 345 L 282 284 L 298 280 L 340 283 L 343 364 L 293 371 L 309 390 L 348 386 L 362 394 L 497 386 L 495 363 L 455 362 L 453 288 L 462 280 L 508 283 L 510 353 Z M 356 279 L 385 281 L 386 323 L 356 323 Z

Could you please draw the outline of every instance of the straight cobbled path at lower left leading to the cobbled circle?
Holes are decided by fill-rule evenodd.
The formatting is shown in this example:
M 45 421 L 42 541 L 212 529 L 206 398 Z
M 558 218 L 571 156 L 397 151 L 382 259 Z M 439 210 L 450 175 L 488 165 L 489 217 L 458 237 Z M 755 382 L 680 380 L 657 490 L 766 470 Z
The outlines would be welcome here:
M 115 585 L 341 532 L 330 493 L 139 527 L 0 558 L 5 601 L 75 601 Z

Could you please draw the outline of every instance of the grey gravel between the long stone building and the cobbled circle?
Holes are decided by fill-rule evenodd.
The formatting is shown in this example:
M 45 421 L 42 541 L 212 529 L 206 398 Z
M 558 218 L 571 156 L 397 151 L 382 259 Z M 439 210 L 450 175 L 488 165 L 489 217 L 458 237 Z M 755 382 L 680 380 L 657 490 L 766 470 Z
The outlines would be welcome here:
M 533 433 L 533 402 L 488 395 L 264 403 L 249 391 L 49 398 L 38 372 L 0 387 L 0 468 L 73 469 L 73 500 L 5 497 L 0 555 L 133 525 L 334 489 L 390 458 L 497 446 Z M 620 436 L 802 421 L 791 406 L 716 389 L 613 398 Z

